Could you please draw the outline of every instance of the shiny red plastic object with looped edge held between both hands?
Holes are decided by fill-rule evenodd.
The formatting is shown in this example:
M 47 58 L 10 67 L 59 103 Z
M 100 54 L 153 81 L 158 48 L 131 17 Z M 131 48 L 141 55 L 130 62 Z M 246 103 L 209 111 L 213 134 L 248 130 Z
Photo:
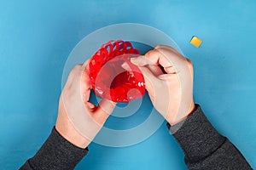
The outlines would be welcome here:
M 95 94 L 102 99 L 124 103 L 143 98 L 143 74 L 130 61 L 131 57 L 138 55 L 139 51 L 132 47 L 131 42 L 119 40 L 103 44 L 89 64 L 89 77 Z

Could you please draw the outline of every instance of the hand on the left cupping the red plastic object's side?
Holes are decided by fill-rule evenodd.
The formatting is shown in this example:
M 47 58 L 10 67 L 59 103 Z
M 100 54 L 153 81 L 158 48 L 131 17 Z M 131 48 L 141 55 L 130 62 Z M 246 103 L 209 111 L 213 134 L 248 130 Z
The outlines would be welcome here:
M 88 61 L 76 65 L 68 76 L 59 103 L 59 113 L 55 128 L 70 143 L 86 148 L 95 138 L 115 103 L 102 99 L 99 106 L 91 104 Z

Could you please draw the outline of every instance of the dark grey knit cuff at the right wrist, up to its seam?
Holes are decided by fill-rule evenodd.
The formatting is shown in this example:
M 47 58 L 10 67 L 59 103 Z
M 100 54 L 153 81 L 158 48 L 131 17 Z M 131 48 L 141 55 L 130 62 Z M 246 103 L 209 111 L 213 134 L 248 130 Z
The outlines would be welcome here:
M 183 122 L 174 126 L 167 124 L 170 133 L 182 147 L 187 161 L 198 161 L 209 156 L 225 141 L 225 138 L 207 120 L 200 105 L 195 107 L 192 115 Z

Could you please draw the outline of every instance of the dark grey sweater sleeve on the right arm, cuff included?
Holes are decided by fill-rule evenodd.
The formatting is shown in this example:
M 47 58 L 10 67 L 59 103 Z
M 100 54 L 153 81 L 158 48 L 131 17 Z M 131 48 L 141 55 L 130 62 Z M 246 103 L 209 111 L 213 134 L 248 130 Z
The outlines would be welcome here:
M 236 146 L 212 127 L 200 105 L 183 122 L 167 126 L 189 169 L 252 169 Z

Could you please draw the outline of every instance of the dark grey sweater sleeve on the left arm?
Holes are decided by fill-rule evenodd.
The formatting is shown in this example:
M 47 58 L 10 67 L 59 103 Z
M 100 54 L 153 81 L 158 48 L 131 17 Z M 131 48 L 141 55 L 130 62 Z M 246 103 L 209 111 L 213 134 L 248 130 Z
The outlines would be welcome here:
M 37 154 L 27 160 L 20 170 L 74 169 L 87 153 L 87 148 L 81 149 L 69 143 L 54 127 Z

